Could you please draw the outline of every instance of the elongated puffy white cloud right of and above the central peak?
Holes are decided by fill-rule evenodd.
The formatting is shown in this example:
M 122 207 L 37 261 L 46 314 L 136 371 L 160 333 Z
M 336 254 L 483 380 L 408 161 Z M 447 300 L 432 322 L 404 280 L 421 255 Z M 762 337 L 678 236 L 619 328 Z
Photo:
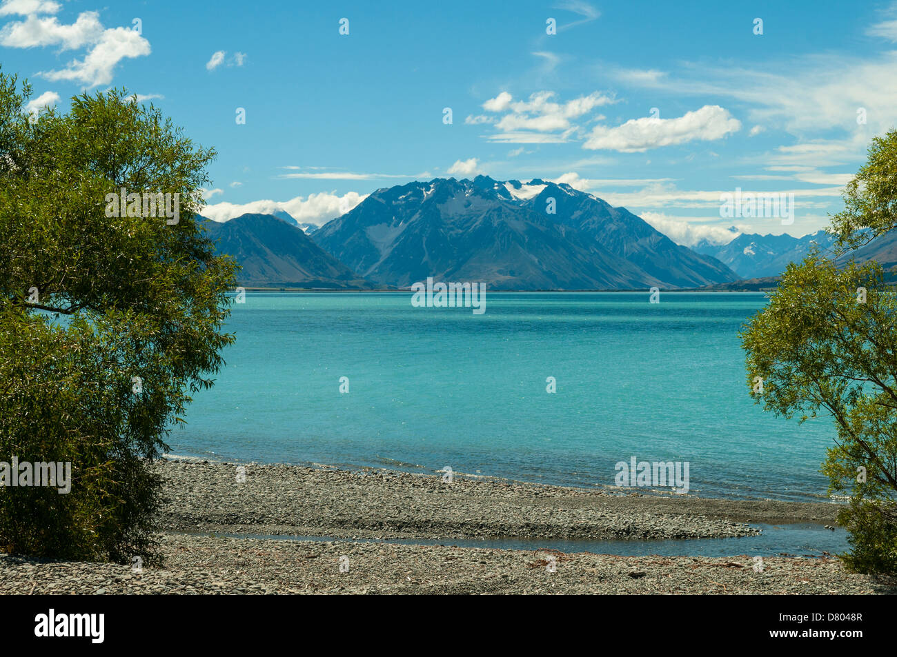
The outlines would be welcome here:
M 622 152 L 647 151 L 694 140 L 715 141 L 741 128 L 741 122 L 718 105 L 705 105 L 678 118 L 633 118 L 623 125 L 596 125 L 583 148 Z

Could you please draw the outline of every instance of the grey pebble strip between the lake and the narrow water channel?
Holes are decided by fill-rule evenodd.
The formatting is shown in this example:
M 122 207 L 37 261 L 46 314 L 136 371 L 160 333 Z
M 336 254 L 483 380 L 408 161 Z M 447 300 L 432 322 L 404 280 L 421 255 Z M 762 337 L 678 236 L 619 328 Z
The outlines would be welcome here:
M 568 488 L 454 473 L 160 461 L 168 532 L 336 539 L 689 540 L 834 525 L 839 505 Z M 244 481 L 238 481 L 238 467 Z

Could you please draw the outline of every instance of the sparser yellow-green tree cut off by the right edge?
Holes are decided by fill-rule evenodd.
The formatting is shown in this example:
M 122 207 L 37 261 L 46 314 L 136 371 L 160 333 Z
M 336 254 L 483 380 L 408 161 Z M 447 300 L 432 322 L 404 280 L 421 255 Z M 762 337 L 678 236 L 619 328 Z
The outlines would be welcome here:
M 834 421 L 822 471 L 830 493 L 850 497 L 839 515 L 852 547 L 845 564 L 897 573 L 897 298 L 882 267 L 853 254 L 897 228 L 897 131 L 870 144 L 844 202 L 830 229 L 836 252 L 816 249 L 789 264 L 742 346 L 751 394 L 765 410 Z

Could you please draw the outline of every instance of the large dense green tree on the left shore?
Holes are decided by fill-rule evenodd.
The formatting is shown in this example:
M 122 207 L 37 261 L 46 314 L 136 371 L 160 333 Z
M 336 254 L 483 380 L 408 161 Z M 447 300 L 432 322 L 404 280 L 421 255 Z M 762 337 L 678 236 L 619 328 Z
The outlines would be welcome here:
M 152 563 L 151 461 L 233 341 L 236 265 L 196 220 L 215 153 L 125 91 L 38 117 L 30 93 L 0 71 L 0 462 L 70 462 L 71 490 L 0 488 L 0 549 Z M 177 222 L 114 216 L 123 188 Z

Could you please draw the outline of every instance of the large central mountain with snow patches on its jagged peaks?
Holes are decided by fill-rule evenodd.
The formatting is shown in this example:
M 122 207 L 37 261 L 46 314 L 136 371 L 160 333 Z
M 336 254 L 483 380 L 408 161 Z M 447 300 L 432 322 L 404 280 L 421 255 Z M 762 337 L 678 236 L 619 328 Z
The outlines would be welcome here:
M 428 276 L 496 290 L 671 289 L 738 279 L 624 208 L 538 178 L 434 178 L 379 189 L 312 238 L 361 276 L 396 287 Z

